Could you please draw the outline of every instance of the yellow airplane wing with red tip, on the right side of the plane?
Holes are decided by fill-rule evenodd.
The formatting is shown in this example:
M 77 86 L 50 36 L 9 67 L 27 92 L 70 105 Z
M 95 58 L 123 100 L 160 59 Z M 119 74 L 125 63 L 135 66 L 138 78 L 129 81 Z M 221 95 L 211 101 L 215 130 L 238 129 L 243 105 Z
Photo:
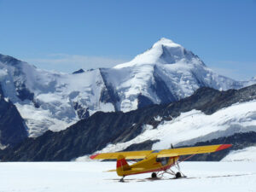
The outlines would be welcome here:
M 224 148 L 230 148 L 231 144 L 220 144 L 220 145 L 207 145 L 200 147 L 191 147 L 191 148 L 172 148 L 172 149 L 164 149 L 157 154 L 157 157 L 175 157 L 186 154 L 206 154 L 212 153 Z

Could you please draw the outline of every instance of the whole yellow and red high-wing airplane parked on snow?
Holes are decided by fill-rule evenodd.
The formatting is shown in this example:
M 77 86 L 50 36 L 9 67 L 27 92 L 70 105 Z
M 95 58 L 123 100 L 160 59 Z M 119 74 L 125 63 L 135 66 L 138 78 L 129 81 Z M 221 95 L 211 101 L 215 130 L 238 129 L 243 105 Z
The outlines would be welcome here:
M 148 151 L 125 151 L 116 153 L 105 153 L 105 154 L 93 154 L 90 156 L 91 160 L 113 160 L 116 159 L 116 169 L 108 172 L 117 172 L 122 178 L 120 182 L 124 181 L 124 177 L 128 175 L 141 174 L 147 172 L 153 172 L 151 177 L 157 178 L 162 176 L 164 173 L 169 173 L 175 177 L 182 177 L 179 171 L 177 160 L 179 156 L 192 154 L 206 154 L 212 153 L 224 148 L 230 148 L 231 144 L 219 144 L 219 145 L 207 145 L 201 147 L 191 148 L 172 148 L 164 150 L 148 150 Z M 126 160 L 137 160 L 133 165 L 129 165 Z M 188 158 L 187 158 L 188 159 Z M 186 159 L 186 160 L 187 160 Z M 179 172 L 173 172 L 172 166 L 177 166 Z

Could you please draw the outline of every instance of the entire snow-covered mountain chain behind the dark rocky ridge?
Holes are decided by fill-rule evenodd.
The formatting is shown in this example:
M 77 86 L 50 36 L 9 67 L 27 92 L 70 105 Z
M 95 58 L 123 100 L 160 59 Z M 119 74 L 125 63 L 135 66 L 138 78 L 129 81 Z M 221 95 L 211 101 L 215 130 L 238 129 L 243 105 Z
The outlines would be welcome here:
M 200 87 L 239 89 L 239 82 L 214 73 L 191 51 L 161 38 L 132 61 L 113 68 L 53 73 L 0 55 L 0 82 L 26 120 L 30 137 L 60 131 L 96 111 L 128 112 L 192 95 Z

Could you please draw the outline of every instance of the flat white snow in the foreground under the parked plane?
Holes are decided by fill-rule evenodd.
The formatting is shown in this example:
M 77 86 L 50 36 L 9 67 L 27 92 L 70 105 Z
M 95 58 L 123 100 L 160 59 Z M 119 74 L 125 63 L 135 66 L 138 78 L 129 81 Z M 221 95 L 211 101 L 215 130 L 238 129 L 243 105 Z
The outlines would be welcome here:
M 1 163 L 0 191 L 20 192 L 105 192 L 105 191 L 189 191 L 253 192 L 256 166 L 248 162 L 183 162 L 188 178 L 148 180 L 150 173 L 125 177 L 119 183 L 115 162 Z M 175 169 L 174 169 L 175 170 Z

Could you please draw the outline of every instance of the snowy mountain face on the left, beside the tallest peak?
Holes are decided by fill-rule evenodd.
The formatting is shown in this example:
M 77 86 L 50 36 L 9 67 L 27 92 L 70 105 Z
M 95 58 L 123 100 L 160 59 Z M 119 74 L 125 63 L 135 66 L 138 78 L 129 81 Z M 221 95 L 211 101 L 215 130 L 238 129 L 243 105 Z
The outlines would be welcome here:
M 30 137 L 67 128 L 79 120 L 79 109 L 84 116 L 114 110 L 112 103 L 99 102 L 102 89 L 106 89 L 99 69 L 78 74 L 53 73 L 16 62 L 11 65 L 0 61 L 0 79 L 4 95 L 26 120 Z M 24 90 L 28 96 L 23 100 L 19 93 Z

